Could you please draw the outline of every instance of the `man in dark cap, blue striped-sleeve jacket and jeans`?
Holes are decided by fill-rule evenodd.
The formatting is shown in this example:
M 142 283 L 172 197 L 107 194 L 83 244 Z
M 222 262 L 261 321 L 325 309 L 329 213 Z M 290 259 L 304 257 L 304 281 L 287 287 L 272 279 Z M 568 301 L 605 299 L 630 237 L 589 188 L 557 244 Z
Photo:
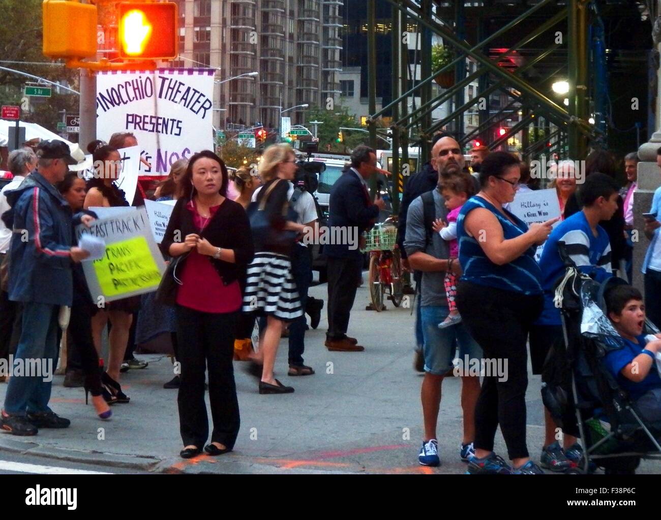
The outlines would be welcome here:
M 38 428 L 66 428 L 70 423 L 48 408 L 48 401 L 58 354 L 59 309 L 71 306 L 73 298 L 71 262 L 89 256 L 71 242 L 73 225 L 89 226 L 93 218 L 78 214 L 76 222 L 54 187 L 64 179 L 69 165 L 85 160 L 77 152 L 81 154 L 78 160 L 63 141 L 42 141 L 37 148 L 37 170 L 7 193 L 12 209 L 3 220 L 13 228 L 9 299 L 22 303 L 23 318 L 0 426 L 14 435 L 36 435 Z

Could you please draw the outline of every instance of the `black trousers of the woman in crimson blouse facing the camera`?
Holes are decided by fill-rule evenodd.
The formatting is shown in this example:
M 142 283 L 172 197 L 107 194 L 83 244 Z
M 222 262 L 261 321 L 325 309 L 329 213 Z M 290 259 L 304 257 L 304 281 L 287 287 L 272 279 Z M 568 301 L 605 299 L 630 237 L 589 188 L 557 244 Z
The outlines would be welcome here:
M 232 449 L 239 434 L 239 401 L 234 382 L 235 323 L 238 312 L 212 314 L 176 306 L 177 360 L 181 363 L 177 397 L 184 446 L 202 448 L 209 437 L 204 402 L 204 371 L 209 370 L 211 441 Z

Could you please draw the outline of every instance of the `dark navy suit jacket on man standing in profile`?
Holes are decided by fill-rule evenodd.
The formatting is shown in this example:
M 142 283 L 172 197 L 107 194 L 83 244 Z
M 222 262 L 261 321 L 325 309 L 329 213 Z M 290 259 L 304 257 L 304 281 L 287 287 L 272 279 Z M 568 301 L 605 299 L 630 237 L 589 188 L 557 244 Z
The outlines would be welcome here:
M 358 228 L 358 234 L 368 230 L 379 216 L 379 207 L 368 201 L 363 184 L 353 170 L 347 170 L 331 188 L 329 201 L 329 227 L 347 228 L 345 236 L 352 236 L 348 228 Z M 338 236 L 338 234 L 333 233 Z M 348 242 L 348 241 L 345 241 Z M 324 245 L 326 255 L 334 258 L 359 257 L 360 249 L 350 244 Z

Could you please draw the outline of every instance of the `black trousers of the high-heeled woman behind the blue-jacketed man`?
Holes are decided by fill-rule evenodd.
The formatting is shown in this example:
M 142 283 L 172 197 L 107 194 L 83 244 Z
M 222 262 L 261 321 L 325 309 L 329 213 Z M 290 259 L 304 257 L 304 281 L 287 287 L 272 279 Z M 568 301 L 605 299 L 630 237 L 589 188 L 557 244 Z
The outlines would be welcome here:
M 69 318 L 69 337 L 67 346 L 67 368 L 71 358 L 80 363 L 85 372 L 85 385 L 92 395 L 101 395 L 101 374 L 98 368 L 98 354 L 92 338 L 93 309 L 86 304 L 73 304 Z

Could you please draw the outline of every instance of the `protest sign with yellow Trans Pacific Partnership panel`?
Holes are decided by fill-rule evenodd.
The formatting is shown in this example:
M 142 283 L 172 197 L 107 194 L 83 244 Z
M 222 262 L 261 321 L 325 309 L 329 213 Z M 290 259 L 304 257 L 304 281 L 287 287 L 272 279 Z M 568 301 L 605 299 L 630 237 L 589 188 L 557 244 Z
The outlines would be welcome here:
M 77 226 L 77 240 L 83 234 L 102 238 L 106 244 L 101 259 L 83 261 L 83 272 L 95 303 L 121 300 L 158 288 L 165 263 L 144 208 L 100 218 L 90 228 Z

